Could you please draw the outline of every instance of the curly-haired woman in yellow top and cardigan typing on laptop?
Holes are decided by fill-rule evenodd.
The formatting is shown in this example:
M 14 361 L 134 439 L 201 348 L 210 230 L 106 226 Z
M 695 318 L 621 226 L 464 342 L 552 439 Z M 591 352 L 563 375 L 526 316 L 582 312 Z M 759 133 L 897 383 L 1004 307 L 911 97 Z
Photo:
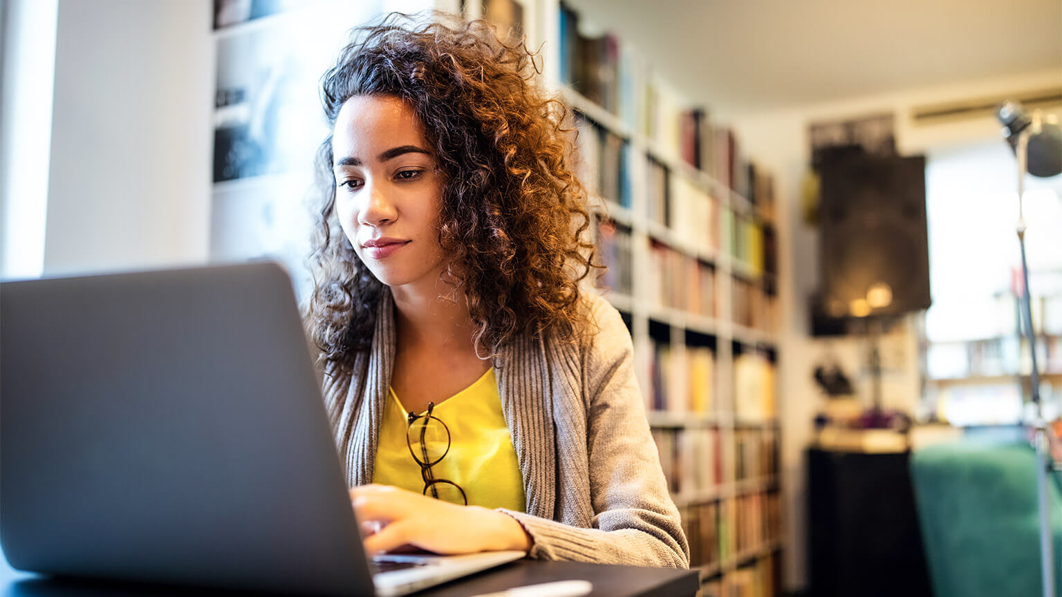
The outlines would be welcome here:
M 631 337 L 579 288 L 585 190 L 532 59 L 482 21 L 393 16 L 323 78 L 308 325 L 365 548 L 686 567 Z

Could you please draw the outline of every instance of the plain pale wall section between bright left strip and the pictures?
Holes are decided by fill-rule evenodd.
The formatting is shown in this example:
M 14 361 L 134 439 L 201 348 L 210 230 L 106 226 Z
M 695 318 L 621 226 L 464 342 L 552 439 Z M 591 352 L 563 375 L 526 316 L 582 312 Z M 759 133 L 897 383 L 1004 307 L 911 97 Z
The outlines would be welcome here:
M 46 274 L 207 257 L 209 0 L 62 0 Z

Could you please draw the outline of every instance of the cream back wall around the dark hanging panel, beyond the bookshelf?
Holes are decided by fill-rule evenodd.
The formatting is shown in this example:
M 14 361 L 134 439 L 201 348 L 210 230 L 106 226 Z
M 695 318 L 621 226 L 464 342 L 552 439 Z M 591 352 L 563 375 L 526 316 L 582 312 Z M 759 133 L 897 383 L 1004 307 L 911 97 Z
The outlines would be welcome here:
M 789 589 L 802 587 L 807 581 L 804 449 L 812 439 L 811 422 L 822 399 L 811 378 L 815 366 L 830 359 L 838 360 L 844 371 L 859 374 L 854 380 L 857 393 L 864 404 L 870 399 L 870 378 L 861 373 L 867 343 L 860 339 L 816 340 L 809 336 L 808 297 L 818 287 L 819 272 L 818 235 L 803 222 L 800 206 L 809 159 L 808 123 L 892 110 L 896 117 L 900 153 L 914 154 L 932 148 L 998 139 L 999 125 L 992 118 L 980 118 L 920 126 L 908 118 L 912 106 L 1060 85 L 1062 73 L 1058 71 L 1028 72 L 724 117 L 737 130 L 742 151 L 775 173 L 783 296 L 778 387 L 783 419 L 782 482 L 786 492 L 785 580 Z M 883 366 L 887 370 L 884 375 L 886 408 L 911 411 L 921 394 L 915 325 L 915 320 L 909 319 L 883 345 Z

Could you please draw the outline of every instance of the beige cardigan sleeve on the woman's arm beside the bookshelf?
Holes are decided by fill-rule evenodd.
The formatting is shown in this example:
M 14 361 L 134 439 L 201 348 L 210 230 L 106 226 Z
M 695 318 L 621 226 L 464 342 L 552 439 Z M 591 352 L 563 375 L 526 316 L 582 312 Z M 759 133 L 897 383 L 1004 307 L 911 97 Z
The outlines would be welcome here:
M 592 301 L 598 331 L 583 358 L 592 528 L 503 511 L 531 535 L 532 558 L 688 567 L 689 546 L 634 374 L 631 335 L 612 305 Z

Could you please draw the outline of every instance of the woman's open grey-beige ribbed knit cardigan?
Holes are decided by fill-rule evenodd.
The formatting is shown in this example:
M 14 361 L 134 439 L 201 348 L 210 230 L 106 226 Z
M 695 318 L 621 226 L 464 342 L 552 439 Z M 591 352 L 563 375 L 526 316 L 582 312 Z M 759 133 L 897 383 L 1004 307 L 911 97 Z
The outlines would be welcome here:
M 596 335 L 511 341 L 495 360 L 527 512 L 499 509 L 531 535 L 530 556 L 688 567 L 689 546 L 661 470 L 634 376 L 631 335 L 604 298 L 582 302 Z M 352 487 L 372 482 L 395 354 L 384 292 L 372 349 L 353 375 L 324 372 L 325 405 Z

